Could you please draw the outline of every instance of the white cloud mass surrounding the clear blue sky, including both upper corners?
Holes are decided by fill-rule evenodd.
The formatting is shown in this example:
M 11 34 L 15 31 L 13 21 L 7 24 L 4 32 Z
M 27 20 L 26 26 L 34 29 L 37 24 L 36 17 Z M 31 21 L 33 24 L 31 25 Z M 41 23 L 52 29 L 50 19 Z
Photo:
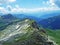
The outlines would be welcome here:
M 16 2 L 16 0 L 0 0 L 0 5 L 2 5 L 4 2 L 7 2 L 8 3 L 13 3 L 13 2 Z M 38 8 L 21 8 L 19 6 L 19 4 L 15 4 L 13 6 L 11 5 L 6 5 L 6 7 L 1 7 L 0 6 L 0 13 L 4 13 L 4 14 L 7 14 L 7 13 L 33 13 L 33 12 L 43 12 L 43 11 L 52 11 L 52 10 L 60 10 L 59 7 L 57 7 L 57 5 L 54 3 L 54 0 L 49 0 L 49 1 L 46 1 L 46 2 L 42 2 L 43 4 L 47 4 L 49 5 L 49 7 L 38 7 Z

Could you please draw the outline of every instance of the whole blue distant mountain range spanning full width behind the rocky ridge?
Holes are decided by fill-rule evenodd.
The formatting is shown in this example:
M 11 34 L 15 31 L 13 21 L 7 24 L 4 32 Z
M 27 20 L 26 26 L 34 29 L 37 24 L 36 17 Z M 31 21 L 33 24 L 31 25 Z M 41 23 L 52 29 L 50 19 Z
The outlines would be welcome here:
M 51 13 L 51 14 L 45 14 L 40 17 L 32 16 L 30 14 L 7 14 L 0 16 L 0 22 L 3 23 L 9 23 L 13 22 L 13 20 L 22 20 L 25 18 L 29 18 L 32 20 L 35 20 L 39 25 L 41 25 L 44 28 L 49 29 L 60 29 L 60 13 Z

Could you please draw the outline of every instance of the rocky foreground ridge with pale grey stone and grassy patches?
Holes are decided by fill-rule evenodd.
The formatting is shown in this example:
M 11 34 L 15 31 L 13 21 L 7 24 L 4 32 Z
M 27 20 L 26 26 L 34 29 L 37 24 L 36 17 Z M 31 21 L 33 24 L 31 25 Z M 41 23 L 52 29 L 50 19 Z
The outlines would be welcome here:
M 44 29 L 30 19 L 13 22 L 0 31 L 1 45 L 53 45 Z

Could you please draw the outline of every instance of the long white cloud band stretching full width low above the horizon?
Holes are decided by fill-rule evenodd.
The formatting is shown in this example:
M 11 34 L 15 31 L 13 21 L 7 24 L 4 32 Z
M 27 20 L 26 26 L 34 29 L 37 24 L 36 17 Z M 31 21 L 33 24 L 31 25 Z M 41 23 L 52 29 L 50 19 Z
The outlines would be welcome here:
M 53 10 L 60 10 L 58 7 L 40 7 L 40 8 L 33 8 L 33 9 L 27 9 L 27 8 L 21 8 L 18 4 L 15 5 L 15 7 L 12 7 L 11 5 L 7 5 L 6 8 L 0 7 L 1 13 L 33 13 L 33 12 L 44 12 L 44 11 L 53 11 Z

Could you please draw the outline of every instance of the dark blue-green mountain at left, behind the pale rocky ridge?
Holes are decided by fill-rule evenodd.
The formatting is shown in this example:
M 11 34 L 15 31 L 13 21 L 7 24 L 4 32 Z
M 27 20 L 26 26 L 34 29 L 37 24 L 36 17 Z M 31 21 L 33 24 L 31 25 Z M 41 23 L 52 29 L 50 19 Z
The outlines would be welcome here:
M 11 14 L 1 15 L 0 16 L 0 30 L 5 29 L 8 25 L 10 25 L 14 21 L 18 21 L 18 19 L 12 16 Z

